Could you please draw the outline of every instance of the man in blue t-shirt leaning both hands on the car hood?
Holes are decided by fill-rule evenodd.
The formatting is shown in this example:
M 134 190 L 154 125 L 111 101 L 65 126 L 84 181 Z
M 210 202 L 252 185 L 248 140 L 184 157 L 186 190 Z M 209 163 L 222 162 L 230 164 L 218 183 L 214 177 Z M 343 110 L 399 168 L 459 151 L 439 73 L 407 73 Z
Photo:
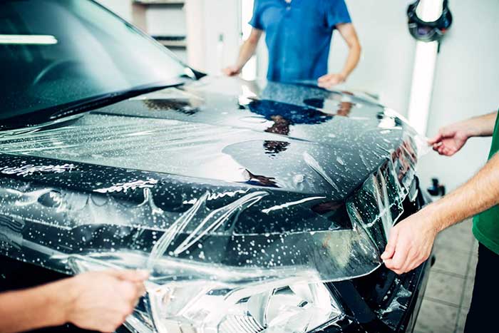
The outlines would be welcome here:
M 359 63 L 361 46 L 344 0 L 255 0 L 252 31 L 237 63 L 224 69 L 239 74 L 265 32 L 269 49 L 267 79 L 277 82 L 318 81 L 329 88 L 342 83 Z M 340 73 L 328 73 L 331 36 L 337 29 L 349 46 Z

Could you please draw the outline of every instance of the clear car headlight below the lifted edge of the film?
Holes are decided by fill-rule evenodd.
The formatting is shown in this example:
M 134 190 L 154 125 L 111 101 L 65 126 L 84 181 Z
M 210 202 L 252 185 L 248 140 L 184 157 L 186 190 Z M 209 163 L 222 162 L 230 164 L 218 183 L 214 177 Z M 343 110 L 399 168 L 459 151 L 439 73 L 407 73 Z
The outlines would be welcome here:
M 148 307 L 158 333 L 305 333 L 342 314 L 324 284 L 306 282 L 150 283 Z

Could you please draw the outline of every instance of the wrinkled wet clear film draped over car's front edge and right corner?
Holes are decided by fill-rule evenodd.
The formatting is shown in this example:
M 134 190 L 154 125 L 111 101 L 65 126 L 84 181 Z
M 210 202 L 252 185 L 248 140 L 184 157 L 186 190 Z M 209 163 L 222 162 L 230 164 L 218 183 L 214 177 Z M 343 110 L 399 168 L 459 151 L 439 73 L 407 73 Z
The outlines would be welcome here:
M 310 156 L 303 158 L 311 163 Z M 271 205 L 265 190 L 228 195 L 207 191 L 187 200 L 190 207 L 184 212 L 173 213 L 155 203 L 158 199 L 152 190 L 161 180 L 152 178 L 108 187 L 106 194 L 102 187 L 78 193 L 2 178 L 0 230 L 8 255 L 58 270 L 67 270 L 67 260 L 77 256 L 117 267 L 148 268 L 153 278 L 163 281 L 233 284 L 311 274 L 315 280 L 342 280 L 378 267 L 386 234 L 403 212 L 415 162 L 416 150 L 407 141 L 369 176 L 346 202 L 350 228 L 237 231 L 250 208 L 269 218 L 289 214 L 290 207 L 294 215 L 311 214 L 304 203 L 323 201 L 317 196 L 297 200 L 302 205 L 286 201 Z M 323 173 L 315 163 L 312 168 Z M 71 172 L 55 167 L 38 172 L 54 170 Z M 25 172 L 26 168 L 19 169 Z M 109 195 L 119 186 L 142 192 L 143 200 L 130 204 Z M 208 207 L 219 198 L 230 200 L 219 208 Z

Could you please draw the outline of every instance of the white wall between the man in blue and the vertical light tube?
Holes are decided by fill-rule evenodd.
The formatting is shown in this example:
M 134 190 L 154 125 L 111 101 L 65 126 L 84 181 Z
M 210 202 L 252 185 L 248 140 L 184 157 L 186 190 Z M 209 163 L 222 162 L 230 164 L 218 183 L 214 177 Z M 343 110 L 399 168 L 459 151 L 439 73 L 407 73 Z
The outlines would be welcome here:
M 345 86 L 379 95 L 381 103 L 407 114 L 415 41 L 407 29 L 407 1 L 346 0 L 362 56 Z M 344 66 L 348 48 L 336 31 L 329 72 Z

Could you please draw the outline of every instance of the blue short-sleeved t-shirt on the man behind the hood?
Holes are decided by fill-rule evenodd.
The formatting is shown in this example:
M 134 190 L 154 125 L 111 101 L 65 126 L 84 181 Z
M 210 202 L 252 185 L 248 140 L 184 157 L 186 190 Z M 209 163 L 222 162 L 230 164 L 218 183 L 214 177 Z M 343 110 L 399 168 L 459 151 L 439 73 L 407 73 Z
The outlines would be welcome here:
M 350 23 L 344 0 L 255 0 L 249 24 L 265 31 L 270 81 L 317 80 L 327 73 L 336 24 Z

